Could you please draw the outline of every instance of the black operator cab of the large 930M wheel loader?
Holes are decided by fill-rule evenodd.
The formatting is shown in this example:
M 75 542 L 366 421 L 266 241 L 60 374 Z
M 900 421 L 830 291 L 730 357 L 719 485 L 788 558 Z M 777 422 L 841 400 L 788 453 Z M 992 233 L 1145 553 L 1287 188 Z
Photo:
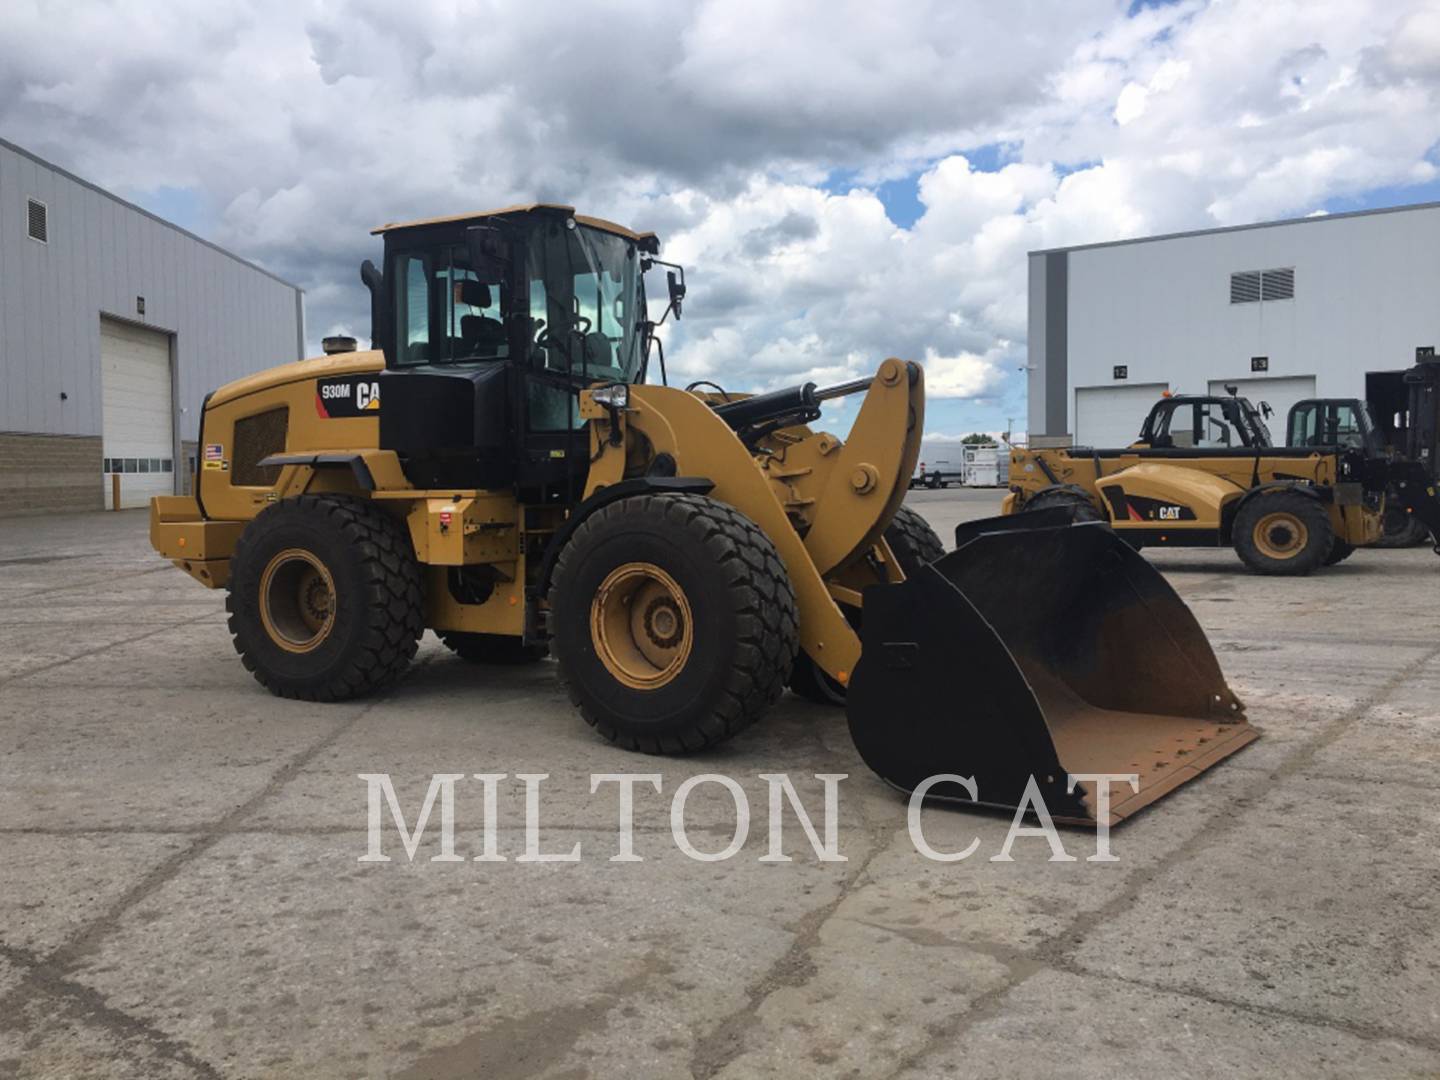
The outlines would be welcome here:
M 645 377 L 654 233 L 536 204 L 376 230 L 361 268 L 384 353 L 380 446 L 419 487 L 569 503 L 589 465 L 579 392 Z

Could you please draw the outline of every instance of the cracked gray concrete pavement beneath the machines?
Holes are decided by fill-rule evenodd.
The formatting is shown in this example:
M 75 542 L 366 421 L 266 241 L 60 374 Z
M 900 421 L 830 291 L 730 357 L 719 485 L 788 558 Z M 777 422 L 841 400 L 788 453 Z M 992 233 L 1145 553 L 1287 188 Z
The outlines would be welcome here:
M 996 492 L 916 492 L 948 534 Z M 1266 737 L 1116 829 L 992 863 L 1008 818 L 926 812 L 786 696 L 697 759 L 598 740 L 549 662 L 477 668 L 432 636 L 383 697 L 281 701 L 243 671 L 223 598 L 154 557 L 138 513 L 0 521 L 0 1076 L 752 1077 L 1440 1074 L 1440 562 L 1361 552 L 1310 579 L 1233 553 L 1155 557 Z M 956 708 L 963 708 L 963 687 Z M 432 773 L 547 773 L 540 848 L 500 785 L 498 851 L 456 783 L 456 851 L 366 854 L 366 782 L 413 824 Z M 636 791 L 616 851 L 615 785 Z M 687 778 L 744 788 L 749 840 L 681 854 Z M 788 773 L 791 863 L 762 863 Z M 436 809 L 436 815 L 439 809 Z M 723 848 L 736 811 L 696 788 Z

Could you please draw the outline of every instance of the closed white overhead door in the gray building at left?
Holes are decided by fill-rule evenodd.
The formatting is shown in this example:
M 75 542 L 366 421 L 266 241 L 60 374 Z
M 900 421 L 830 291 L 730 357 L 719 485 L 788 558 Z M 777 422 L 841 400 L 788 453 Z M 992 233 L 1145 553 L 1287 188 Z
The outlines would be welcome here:
M 99 370 L 105 501 L 118 472 L 120 504 L 143 507 L 174 491 L 170 338 L 102 318 Z

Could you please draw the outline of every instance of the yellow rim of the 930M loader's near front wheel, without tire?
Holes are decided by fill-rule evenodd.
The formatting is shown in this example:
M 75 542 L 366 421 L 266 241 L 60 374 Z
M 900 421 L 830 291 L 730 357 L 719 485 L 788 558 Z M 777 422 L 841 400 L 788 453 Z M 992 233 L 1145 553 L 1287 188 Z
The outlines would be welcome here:
M 694 644 L 690 600 L 654 563 L 625 563 L 590 602 L 595 655 L 632 690 L 658 690 L 685 667 Z

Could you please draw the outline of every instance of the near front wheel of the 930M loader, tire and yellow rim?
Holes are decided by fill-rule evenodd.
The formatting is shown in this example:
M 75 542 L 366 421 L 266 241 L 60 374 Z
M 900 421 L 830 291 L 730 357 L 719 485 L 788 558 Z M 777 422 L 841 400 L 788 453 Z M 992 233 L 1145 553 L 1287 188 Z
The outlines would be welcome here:
M 550 588 L 560 680 L 602 736 L 688 753 L 759 720 L 799 648 L 770 539 L 696 494 L 634 495 L 586 518 Z

